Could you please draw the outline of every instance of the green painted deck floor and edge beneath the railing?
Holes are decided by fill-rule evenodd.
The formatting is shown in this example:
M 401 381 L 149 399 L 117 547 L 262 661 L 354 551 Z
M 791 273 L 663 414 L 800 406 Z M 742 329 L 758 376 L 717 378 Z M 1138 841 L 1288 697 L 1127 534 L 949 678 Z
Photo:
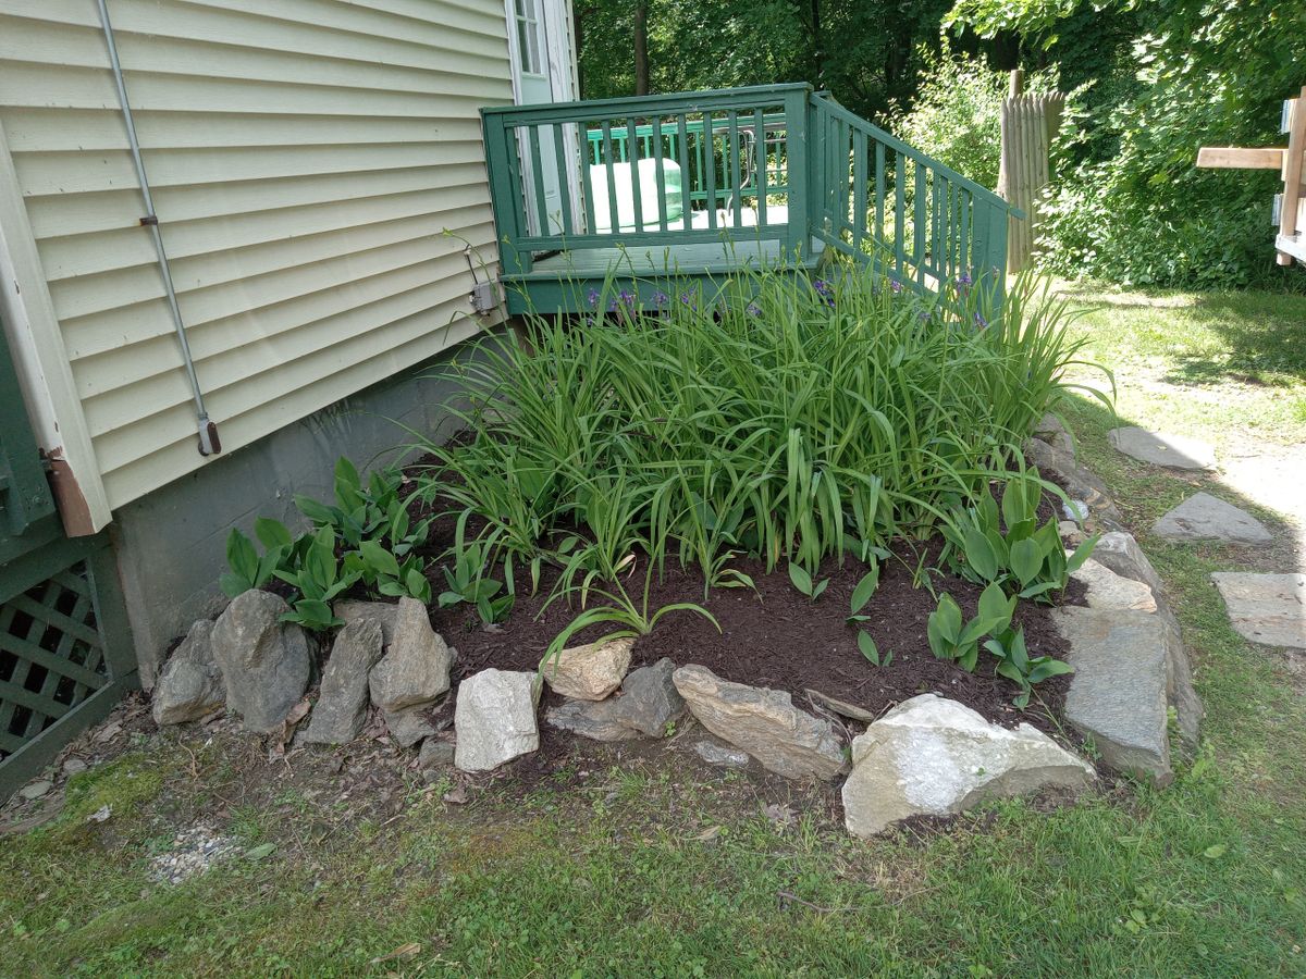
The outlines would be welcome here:
M 811 239 L 806 255 L 790 256 L 776 239 L 721 240 L 692 244 L 637 243 L 615 248 L 585 248 L 535 258 L 530 272 L 504 277 L 508 312 L 563 313 L 588 308 L 585 296 L 611 279 L 610 291 L 626 290 L 645 302 L 666 287 L 720 281 L 743 269 L 815 269 L 825 243 Z

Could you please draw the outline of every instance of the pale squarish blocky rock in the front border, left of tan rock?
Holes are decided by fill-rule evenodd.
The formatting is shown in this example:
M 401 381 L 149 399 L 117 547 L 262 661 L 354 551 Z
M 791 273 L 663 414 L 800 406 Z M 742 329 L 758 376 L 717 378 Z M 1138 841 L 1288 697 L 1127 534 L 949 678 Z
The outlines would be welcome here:
M 534 672 L 482 670 L 458 684 L 453 764 L 490 771 L 539 748 Z

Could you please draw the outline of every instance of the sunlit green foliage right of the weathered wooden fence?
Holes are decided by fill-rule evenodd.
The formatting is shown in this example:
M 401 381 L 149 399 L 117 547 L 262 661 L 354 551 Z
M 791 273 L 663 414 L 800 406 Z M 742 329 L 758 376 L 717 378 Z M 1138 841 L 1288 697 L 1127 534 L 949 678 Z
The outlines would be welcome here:
M 946 23 L 1016 31 L 1068 84 L 1089 82 L 1047 209 L 1054 270 L 1121 285 L 1302 283 L 1273 265 L 1277 176 L 1195 167 L 1202 145 L 1281 144 L 1280 103 L 1306 81 L 1301 0 L 960 0 Z

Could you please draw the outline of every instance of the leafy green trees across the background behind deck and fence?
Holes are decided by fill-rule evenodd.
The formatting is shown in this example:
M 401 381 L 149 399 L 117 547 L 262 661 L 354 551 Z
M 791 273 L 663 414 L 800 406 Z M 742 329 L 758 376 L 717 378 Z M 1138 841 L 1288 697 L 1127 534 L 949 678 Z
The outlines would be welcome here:
M 1273 264 L 1271 171 L 1306 84 L 1303 0 L 576 0 L 586 98 L 808 81 L 993 185 L 1000 72 L 1072 91 L 1042 258 L 1123 286 L 1306 288 Z M 643 25 L 643 26 L 641 26 Z M 943 39 L 951 38 L 948 51 Z

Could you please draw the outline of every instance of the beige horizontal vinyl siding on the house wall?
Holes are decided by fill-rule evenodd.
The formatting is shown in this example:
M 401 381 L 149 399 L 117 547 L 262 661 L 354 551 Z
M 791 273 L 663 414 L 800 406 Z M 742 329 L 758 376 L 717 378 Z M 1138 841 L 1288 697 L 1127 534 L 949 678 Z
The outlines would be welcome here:
M 460 239 L 496 261 L 502 0 L 108 7 L 226 452 L 485 325 Z M 0 127 L 119 506 L 204 459 L 94 0 L 0 7 Z

